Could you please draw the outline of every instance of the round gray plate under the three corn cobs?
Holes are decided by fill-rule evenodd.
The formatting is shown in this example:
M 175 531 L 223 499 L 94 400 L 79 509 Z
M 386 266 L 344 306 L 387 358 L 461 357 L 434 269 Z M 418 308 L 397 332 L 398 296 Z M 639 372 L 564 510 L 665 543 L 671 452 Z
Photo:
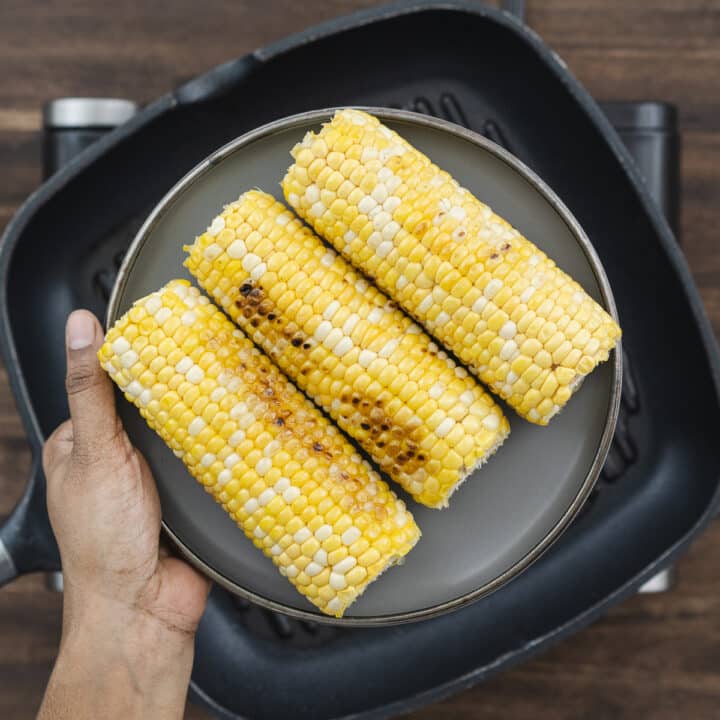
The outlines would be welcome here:
M 369 109 L 547 252 L 613 314 L 607 279 L 588 239 L 539 178 L 484 138 L 401 111 Z M 222 206 L 260 187 L 282 198 L 290 148 L 332 111 L 274 122 L 200 164 L 163 199 L 138 233 L 120 271 L 108 323 L 174 277 L 187 277 L 183 250 Z M 409 502 L 423 537 L 339 621 L 397 623 L 430 617 L 498 588 L 536 559 L 589 494 L 614 430 L 620 353 L 602 365 L 549 427 L 508 410 L 512 431 L 497 455 L 453 496 L 450 508 Z M 158 483 L 165 529 L 216 581 L 289 614 L 329 620 L 259 553 L 184 466 L 124 401 L 121 414 Z M 331 621 L 331 620 L 330 620 Z M 338 622 L 338 621 L 334 621 Z

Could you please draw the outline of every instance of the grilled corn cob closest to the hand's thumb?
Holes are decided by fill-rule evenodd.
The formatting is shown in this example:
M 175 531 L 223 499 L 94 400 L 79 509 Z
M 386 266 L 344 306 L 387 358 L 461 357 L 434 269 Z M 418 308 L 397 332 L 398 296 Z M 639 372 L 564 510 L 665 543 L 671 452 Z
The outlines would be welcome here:
M 340 432 L 187 281 L 141 300 L 100 361 L 280 572 L 340 617 L 420 536 Z

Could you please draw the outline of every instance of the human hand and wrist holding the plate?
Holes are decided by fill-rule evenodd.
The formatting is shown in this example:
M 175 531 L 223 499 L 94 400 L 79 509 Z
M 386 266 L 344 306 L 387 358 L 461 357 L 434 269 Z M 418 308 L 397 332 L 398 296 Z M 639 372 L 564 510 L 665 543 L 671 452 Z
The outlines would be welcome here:
M 68 318 L 71 419 L 43 450 L 65 592 L 40 717 L 181 717 L 209 583 L 161 550 L 157 489 L 115 412 L 102 335 L 89 312 Z

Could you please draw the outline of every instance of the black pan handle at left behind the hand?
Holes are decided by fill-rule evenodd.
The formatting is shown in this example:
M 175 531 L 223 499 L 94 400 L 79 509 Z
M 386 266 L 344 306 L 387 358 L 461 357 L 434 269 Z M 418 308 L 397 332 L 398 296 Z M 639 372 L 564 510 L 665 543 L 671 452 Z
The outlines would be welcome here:
M 18 575 L 60 569 L 60 553 L 45 504 L 45 475 L 40 453 L 20 502 L 0 527 L 0 586 Z

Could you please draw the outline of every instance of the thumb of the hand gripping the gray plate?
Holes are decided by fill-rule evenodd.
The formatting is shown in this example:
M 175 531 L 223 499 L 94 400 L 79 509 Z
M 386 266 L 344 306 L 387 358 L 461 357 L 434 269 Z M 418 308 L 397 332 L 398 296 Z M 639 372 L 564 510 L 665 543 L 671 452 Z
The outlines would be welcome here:
M 94 450 L 112 441 L 120 428 L 112 384 L 97 358 L 102 342 L 102 328 L 92 313 L 87 310 L 70 313 L 65 328 L 65 386 L 73 446 L 85 457 L 92 457 Z

